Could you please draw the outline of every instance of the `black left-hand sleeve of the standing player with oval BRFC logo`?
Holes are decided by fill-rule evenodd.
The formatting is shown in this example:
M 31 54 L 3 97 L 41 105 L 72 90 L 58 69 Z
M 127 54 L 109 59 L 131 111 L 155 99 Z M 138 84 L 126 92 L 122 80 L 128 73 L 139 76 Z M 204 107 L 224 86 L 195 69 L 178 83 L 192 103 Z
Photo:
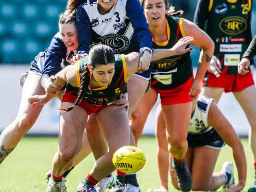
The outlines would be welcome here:
M 204 31 L 204 24 L 209 14 L 210 0 L 198 0 L 197 8 L 194 15 L 194 23 Z

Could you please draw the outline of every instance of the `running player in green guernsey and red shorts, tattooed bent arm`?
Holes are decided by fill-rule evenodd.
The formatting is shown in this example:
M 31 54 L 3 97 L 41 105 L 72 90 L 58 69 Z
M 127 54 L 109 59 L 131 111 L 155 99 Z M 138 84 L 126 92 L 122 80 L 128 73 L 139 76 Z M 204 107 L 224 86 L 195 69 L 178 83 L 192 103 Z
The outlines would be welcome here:
M 159 93 L 178 185 L 181 190 L 188 191 L 192 188 L 192 179 L 184 157 L 187 151 L 186 137 L 191 115 L 191 99 L 197 98 L 200 93 L 200 82 L 208 68 L 214 44 L 195 24 L 174 17 L 181 12 L 174 13 L 173 7 L 169 9 L 167 1 L 141 0 L 141 5 L 147 18 L 154 49 L 170 48 L 178 39 L 188 35 L 195 38 L 191 45 L 202 49 L 195 79 L 189 53 L 154 61 L 150 90 L 137 106 L 135 112 L 139 118 L 131 125 L 137 141 Z

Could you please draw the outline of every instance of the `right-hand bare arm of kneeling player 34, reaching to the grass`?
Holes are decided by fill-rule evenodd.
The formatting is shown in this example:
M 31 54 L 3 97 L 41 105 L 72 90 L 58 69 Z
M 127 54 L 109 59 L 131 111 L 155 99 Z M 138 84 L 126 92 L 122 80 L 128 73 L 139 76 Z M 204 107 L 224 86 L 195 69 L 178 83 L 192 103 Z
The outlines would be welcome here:
M 236 131 L 221 113 L 215 102 L 211 103 L 209 109 L 208 125 L 213 126 L 224 142 L 226 142 L 226 144 L 228 144 L 233 150 L 233 157 L 236 162 L 239 183 L 236 186 L 229 188 L 227 191 L 241 191 L 245 187 L 247 174 L 245 151 Z

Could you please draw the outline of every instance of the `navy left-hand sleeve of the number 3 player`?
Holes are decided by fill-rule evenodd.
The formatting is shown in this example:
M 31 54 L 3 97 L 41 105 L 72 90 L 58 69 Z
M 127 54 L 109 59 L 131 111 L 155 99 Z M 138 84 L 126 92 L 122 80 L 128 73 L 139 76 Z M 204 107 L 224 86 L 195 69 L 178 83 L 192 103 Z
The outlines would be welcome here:
M 78 32 L 78 54 L 88 55 L 89 47 L 93 43 L 92 24 L 82 4 L 76 13 L 76 25 Z

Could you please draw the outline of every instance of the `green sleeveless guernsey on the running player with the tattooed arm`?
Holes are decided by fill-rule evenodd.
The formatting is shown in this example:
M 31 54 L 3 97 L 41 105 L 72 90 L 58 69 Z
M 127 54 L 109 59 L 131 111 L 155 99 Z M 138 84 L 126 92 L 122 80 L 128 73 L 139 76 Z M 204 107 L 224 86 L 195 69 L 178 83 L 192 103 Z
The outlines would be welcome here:
M 166 42 L 156 42 L 154 37 L 153 49 L 169 49 L 178 42 L 182 37 L 186 37 L 182 27 L 183 18 L 167 17 L 167 35 Z M 166 90 L 177 87 L 185 83 L 193 76 L 192 62 L 189 52 L 182 55 L 174 55 L 165 57 L 153 62 L 151 73 L 151 85 L 160 90 Z

